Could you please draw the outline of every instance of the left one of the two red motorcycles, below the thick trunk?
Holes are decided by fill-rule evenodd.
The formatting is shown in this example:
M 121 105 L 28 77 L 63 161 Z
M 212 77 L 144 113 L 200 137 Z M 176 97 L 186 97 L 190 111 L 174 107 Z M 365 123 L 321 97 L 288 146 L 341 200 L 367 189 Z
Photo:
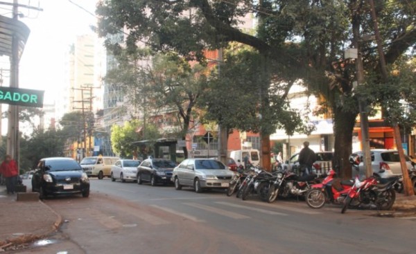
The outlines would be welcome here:
M 305 194 L 305 201 L 310 208 L 319 209 L 325 203 L 344 203 L 354 182 L 352 180 L 340 181 L 339 185 L 334 186 L 335 180 L 336 172 L 329 170 L 322 183 L 311 185 L 311 189 Z

